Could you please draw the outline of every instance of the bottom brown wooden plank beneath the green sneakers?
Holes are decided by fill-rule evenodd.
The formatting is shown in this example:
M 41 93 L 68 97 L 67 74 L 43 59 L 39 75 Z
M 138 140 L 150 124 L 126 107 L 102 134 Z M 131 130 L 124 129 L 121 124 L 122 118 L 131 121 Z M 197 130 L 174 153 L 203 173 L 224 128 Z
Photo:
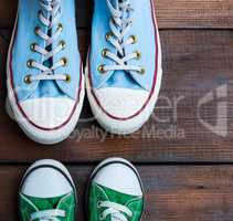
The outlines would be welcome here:
M 17 192 L 24 167 L 0 167 L 1 220 L 17 219 Z M 68 167 L 78 190 L 78 215 L 83 204 L 89 167 Z M 232 221 L 233 167 L 138 167 L 146 188 L 144 221 Z

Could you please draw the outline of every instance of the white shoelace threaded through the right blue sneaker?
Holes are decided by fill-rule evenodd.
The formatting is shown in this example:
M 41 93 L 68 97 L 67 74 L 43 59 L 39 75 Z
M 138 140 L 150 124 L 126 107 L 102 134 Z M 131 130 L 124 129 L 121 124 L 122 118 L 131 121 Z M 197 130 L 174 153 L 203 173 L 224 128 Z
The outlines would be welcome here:
M 110 0 L 106 0 L 112 19 L 109 21 L 110 32 L 106 35 L 107 41 L 117 50 L 114 54 L 109 50 L 104 50 L 103 55 L 113 60 L 114 65 L 102 65 L 103 72 L 107 71 L 135 71 L 144 73 L 145 70 L 141 66 L 127 64 L 130 60 L 140 59 L 140 52 L 134 52 L 130 54 L 125 53 L 125 48 L 129 44 L 136 43 L 136 36 L 131 35 L 125 40 L 126 34 L 129 32 L 133 20 L 131 14 L 134 9 L 130 6 L 130 0 L 123 0 L 118 2 L 117 9 L 112 4 Z

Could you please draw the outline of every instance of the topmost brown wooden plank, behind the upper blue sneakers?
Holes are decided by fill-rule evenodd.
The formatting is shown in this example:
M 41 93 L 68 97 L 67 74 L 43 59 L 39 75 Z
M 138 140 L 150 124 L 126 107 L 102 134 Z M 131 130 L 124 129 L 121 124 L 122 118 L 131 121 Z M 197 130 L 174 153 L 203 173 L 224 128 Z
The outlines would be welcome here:
M 153 0 L 159 27 L 170 28 L 233 28 L 231 0 Z M 12 27 L 17 0 L 1 0 L 0 28 Z M 76 1 L 78 27 L 89 25 L 92 1 Z

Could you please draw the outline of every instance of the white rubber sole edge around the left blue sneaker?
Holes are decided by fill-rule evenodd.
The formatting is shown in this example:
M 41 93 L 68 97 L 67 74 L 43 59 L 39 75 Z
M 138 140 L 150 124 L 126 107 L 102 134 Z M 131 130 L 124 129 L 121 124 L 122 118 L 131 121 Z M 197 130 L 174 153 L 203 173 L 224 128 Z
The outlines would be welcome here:
M 17 20 L 18 20 L 18 15 L 17 15 Z M 7 113 L 9 114 L 9 116 L 11 118 L 13 118 L 19 124 L 19 126 L 24 131 L 24 134 L 28 137 L 30 137 L 32 140 L 34 140 L 35 143 L 39 143 L 39 144 L 43 144 L 43 145 L 54 145 L 54 144 L 61 143 L 64 139 L 66 139 L 71 135 L 71 133 L 75 129 L 75 126 L 80 119 L 81 110 L 83 107 L 83 101 L 84 101 L 84 96 L 85 96 L 85 83 L 84 83 L 85 78 L 83 75 L 80 102 L 76 106 L 76 109 L 75 109 L 72 118 L 65 126 L 61 127 L 60 129 L 55 129 L 55 130 L 43 130 L 43 129 L 39 129 L 39 128 L 34 127 L 33 125 L 31 125 L 24 118 L 24 116 L 22 115 L 20 109 L 18 108 L 17 101 L 13 95 L 14 92 L 11 87 L 10 53 L 11 53 L 11 48 L 13 44 L 13 38 L 15 34 L 17 20 L 14 23 L 14 29 L 13 29 L 13 34 L 11 38 L 10 48 L 8 51 L 8 62 L 7 62 L 7 86 L 8 86 L 8 98 L 7 99 L 8 101 L 6 102 L 6 106 L 7 106 L 6 109 L 7 109 Z M 83 73 L 81 73 L 81 74 L 83 74 Z M 11 96 L 9 96 L 9 95 L 11 95 Z

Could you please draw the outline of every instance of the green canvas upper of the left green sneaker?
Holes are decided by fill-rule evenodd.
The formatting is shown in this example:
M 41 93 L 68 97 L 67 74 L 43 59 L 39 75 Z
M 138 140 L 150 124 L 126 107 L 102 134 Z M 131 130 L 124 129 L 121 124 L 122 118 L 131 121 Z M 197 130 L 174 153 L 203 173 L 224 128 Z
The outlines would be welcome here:
M 31 214 L 33 212 L 51 209 L 60 209 L 65 211 L 66 217 L 59 218 L 61 221 L 74 221 L 75 203 L 74 193 L 67 193 L 47 199 L 29 197 L 22 193 L 19 196 L 20 217 L 22 221 L 30 221 Z

